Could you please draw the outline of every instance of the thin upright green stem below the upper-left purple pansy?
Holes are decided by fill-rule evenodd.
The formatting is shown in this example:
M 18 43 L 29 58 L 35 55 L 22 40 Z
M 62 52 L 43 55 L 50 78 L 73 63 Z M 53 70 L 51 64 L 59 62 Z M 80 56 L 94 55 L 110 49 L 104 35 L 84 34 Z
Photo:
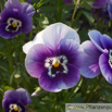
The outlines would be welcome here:
M 10 45 L 7 39 L 5 39 L 5 42 L 7 42 L 7 50 L 8 50 L 8 54 L 9 54 L 8 61 L 9 61 L 9 65 L 10 65 L 10 73 L 12 74 L 13 73 L 13 60 L 12 60 L 12 55 L 10 52 Z

